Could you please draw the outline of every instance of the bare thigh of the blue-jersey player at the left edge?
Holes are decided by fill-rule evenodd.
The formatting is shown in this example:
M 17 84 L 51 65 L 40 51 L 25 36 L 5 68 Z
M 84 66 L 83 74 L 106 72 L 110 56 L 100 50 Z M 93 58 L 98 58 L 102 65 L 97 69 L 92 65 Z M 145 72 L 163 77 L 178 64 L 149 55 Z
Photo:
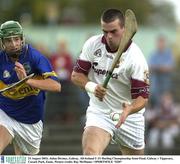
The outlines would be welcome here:
M 3 126 L 0 125 L 0 154 L 9 145 L 12 141 L 12 135 L 9 131 Z

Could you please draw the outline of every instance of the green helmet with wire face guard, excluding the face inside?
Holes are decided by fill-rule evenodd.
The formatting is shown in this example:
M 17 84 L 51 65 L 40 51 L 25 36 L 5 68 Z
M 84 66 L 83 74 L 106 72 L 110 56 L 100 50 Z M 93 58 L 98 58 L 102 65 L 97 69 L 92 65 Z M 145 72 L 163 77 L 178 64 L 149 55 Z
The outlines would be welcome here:
M 7 21 L 1 25 L 1 27 L 0 27 L 0 38 L 2 41 L 2 48 L 5 51 L 6 51 L 6 47 L 3 44 L 4 39 L 13 38 L 13 37 L 17 37 L 17 36 L 21 37 L 22 44 L 17 49 L 17 51 L 7 52 L 8 55 L 10 55 L 12 57 L 13 57 L 13 55 L 14 55 L 14 57 L 18 57 L 18 55 L 22 51 L 23 45 L 25 44 L 24 43 L 24 36 L 23 36 L 23 29 L 22 29 L 21 25 L 19 24 L 19 22 L 16 22 L 16 21 Z

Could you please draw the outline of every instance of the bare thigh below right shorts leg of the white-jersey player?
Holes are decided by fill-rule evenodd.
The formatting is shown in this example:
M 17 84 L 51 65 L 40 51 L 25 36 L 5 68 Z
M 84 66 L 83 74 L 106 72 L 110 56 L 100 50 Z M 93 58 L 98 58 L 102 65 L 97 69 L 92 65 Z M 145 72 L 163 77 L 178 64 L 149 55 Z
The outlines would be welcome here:
M 144 149 L 136 150 L 125 146 L 121 146 L 122 155 L 144 155 Z

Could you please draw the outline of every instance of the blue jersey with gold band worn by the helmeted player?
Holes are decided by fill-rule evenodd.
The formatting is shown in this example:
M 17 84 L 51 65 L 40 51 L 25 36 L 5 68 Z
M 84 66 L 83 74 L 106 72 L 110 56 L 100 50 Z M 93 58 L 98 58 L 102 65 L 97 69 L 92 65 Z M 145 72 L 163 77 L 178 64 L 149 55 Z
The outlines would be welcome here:
M 23 47 L 19 56 L 27 75 L 34 73 L 34 78 L 52 78 L 58 80 L 48 59 L 30 45 Z M 0 89 L 19 81 L 14 70 L 15 63 L 8 55 L 0 52 Z M 0 94 L 0 109 L 15 120 L 32 124 L 43 120 L 45 91 L 33 88 L 26 83 Z

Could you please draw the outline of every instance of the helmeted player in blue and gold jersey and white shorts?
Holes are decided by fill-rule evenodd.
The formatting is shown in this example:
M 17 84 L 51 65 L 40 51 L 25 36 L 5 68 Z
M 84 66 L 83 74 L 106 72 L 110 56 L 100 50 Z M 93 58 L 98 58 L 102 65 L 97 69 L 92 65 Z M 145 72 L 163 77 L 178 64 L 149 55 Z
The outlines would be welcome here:
M 43 131 L 45 91 L 59 92 L 61 85 L 46 57 L 25 44 L 18 22 L 3 23 L 0 38 L 0 89 L 35 74 L 0 94 L 0 154 L 11 143 L 16 155 L 37 154 Z

